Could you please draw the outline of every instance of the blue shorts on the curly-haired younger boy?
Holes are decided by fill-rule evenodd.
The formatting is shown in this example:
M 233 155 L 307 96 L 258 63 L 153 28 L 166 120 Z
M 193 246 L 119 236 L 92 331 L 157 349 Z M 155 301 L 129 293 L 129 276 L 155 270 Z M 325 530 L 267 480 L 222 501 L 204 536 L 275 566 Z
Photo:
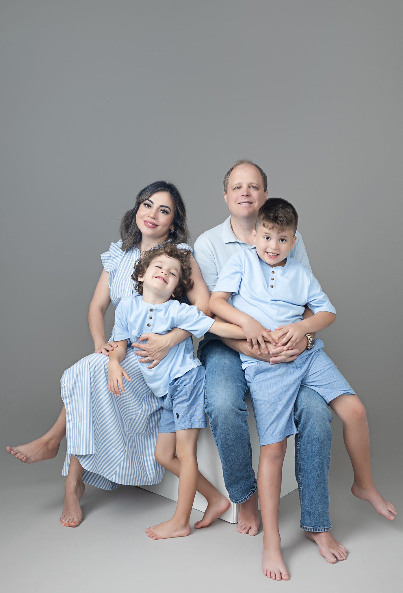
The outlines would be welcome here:
M 207 427 L 204 412 L 204 380 L 204 366 L 200 365 L 170 382 L 168 393 L 161 398 L 164 409 L 159 432 Z

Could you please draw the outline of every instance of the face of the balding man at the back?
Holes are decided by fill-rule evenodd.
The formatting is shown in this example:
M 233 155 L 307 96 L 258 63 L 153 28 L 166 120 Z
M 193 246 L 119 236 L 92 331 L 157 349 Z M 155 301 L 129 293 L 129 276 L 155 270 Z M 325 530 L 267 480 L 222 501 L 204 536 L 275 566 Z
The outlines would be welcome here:
M 228 178 L 224 200 L 235 218 L 257 218 L 260 206 L 267 198 L 263 190 L 262 176 L 253 165 L 238 165 Z

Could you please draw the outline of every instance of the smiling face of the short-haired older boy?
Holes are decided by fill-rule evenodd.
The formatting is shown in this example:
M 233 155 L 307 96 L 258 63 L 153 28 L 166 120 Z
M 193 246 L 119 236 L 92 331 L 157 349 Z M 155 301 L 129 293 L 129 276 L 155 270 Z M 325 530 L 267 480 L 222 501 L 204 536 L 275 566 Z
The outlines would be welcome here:
M 269 266 L 284 266 L 283 260 L 295 245 L 296 237 L 293 229 L 279 231 L 276 228 L 258 227 L 253 231 L 256 253 Z

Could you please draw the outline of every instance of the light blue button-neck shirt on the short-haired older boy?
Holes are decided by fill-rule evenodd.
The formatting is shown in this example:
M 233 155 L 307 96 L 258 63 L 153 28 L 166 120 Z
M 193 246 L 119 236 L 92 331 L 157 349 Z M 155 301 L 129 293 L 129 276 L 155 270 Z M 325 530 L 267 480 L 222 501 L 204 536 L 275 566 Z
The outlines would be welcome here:
M 284 267 L 271 267 L 259 258 L 254 247 L 243 249 L 228 260 L 214 292 L 231 292 L 233 307 L 272 331 L 301 321 L 305 305 L 313 313 L 336 313 L 310 270 L 289 256 Z M 258 362 L 244 354 L 240 357 L 243 369 Z

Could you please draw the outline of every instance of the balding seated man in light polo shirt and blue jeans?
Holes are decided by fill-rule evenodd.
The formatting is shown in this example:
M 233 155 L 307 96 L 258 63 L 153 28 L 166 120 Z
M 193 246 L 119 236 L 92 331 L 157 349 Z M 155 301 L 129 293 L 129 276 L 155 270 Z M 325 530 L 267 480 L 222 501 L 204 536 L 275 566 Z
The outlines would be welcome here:
M 195 242 L 194 256 L 209 291 L 214 290 L 221 268 L 241 249 L 253 246 L 252 231 L 257 212 L 267 199 L 267 176 L 252 161 L 236 161 L 224 177 L 224 199 L 230 216 L 223 224 L 204 232 Z M 290 252 L 311 269 L 301 235 Z M 306 308 L 304 318 L 312 315 Z M 273 329 L 273 328 L 271 328 Z M 272 364 L 294 361 L 308 345 L 304 337 L 295 349 L 282 352 L 267 345 L 268 353 L 253 354 L 246 340 L 216 339 L 207 334 L 198 356 L 206 369 L 205 409 L 212 435 L 220 453 L 224 481 L 230 499 L 240 504 L 237 530 L 256 535 L 260 520 L 257 512 L 257 483 L 252 468 L 252 449 L 247 425 L 248 392 L 238 352 Z M 301 502 L 301 528 L 318 544 L 327 562 L 344 560 L 346 549 L 331 535 L 328 515 L 328 467 L 331 447 L 331 413 L 315 391 L 301 387 L 296 398 L 295 475 Z

